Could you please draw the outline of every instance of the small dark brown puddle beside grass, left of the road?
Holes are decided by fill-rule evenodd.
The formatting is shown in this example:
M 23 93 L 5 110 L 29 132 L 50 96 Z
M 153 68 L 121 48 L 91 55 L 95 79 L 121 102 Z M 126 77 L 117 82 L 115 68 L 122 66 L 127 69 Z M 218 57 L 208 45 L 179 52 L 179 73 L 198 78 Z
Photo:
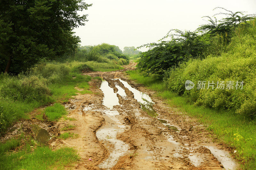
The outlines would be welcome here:
M 36 141 L 45 144 L 48 140 L 51 139 L 51 135 L 48 133 L 47 130 L 40 128 L 37 124 L 30 124 L 31 129 L 35 133 Z

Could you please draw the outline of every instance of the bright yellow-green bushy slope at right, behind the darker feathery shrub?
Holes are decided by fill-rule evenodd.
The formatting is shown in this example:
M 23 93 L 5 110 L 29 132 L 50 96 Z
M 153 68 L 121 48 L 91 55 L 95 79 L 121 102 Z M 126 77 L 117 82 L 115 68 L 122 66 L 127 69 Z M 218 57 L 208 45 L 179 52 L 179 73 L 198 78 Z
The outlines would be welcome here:
M 254 23 L 254 25 L 253 25 Z M 191 59 L 172 68 L 165 75 L 168 88 L 188 98 L 197 106 L 236 110 L 236 113 L 256 116 L 256 36 L 255 20 L 251 26 L 241 25 L 220 56 Z M 185 90 L 185 81 L 195 83 L 192 90 Z M 243 89 L 196 89 L 198 81 L 244 81 Z

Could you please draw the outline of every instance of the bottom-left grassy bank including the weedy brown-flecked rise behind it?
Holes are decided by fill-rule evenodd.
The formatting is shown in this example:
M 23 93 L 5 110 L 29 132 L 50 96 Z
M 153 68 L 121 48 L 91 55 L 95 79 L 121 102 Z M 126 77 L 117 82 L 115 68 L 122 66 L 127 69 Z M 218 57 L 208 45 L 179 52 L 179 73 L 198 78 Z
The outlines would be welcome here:
M 20 146 L 22 145 L 22 146 Z M 18 147 L 18 148 L 17 148 Z M 16 149 L 16 152 L 12 152 Z M 64 169 L 79 159 L 73 148 L 52 151 L 23 134 L 0 144 L 0 169 Z

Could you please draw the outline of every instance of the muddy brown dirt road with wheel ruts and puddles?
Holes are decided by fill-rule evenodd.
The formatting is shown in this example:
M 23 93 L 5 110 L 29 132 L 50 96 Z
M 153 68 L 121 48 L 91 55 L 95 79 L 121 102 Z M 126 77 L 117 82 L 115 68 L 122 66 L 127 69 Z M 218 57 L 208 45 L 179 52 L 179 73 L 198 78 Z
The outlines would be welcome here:
M 165 104 L 156 92 L 129 80 L 126 70 L 89 72 L 92 93 L 74 96 L 60 129 L 75 125 L 77 138 L 51 142 L 75 147 L 76 169 L 236 169 L 225 146 L 212 142 L 204 125 Z M 63 133 L 61 131 L 60 133 Z

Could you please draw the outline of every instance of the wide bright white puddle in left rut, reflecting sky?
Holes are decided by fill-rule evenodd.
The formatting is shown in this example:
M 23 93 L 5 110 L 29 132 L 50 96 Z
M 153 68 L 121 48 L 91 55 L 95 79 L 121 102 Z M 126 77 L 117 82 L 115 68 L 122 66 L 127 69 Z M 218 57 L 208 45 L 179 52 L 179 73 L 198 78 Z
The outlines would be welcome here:
M 119 105 L 119 100 L 114 93 L 114 90 L 108 86 L 108 82 L 103 80 L 100 85 L 100 90 L 104 93 L 103 105 L 112 109 L 113 106 Z

